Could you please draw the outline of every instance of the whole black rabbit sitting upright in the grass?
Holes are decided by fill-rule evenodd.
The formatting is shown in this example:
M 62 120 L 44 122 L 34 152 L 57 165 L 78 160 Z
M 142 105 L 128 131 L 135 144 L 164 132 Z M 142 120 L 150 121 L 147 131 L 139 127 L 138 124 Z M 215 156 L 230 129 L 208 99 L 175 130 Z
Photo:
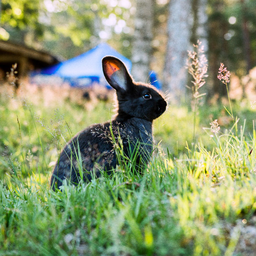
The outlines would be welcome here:
M 93 124 L 67 143 L 52 173 L 53 190 L 55 186 L 59 189 L 65 179 L 78 184 L 81 162 L 84 181 L 90 181 L 93 176 L 99 177 L 102 170 L 110 174 L 117 165 L 113 135 L 117 143 L 122 140 L 127 157 L 135 148 L 138 149 L 138 166 L 145 166 L 150 160 L 153 150 L 152 122 L 166 110 L 164 96 L 150 84 L 134 82 L 123 62 L 115 57 L 104 57 L 102 69 L 107 82 L 116 91 L 117 113 L 111 122 Z M 81 157 L 77 162 L 79 150 Z

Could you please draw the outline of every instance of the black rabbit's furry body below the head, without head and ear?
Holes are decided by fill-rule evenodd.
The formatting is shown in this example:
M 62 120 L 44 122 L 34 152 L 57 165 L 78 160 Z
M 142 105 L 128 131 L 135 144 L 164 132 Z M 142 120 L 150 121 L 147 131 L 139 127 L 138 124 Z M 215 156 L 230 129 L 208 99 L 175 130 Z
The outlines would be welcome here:
M 56 163 L 53 171 L 51 184 L 53 184 L 56 177 L 58 177 L 56 179 L 57 187 L 62 185 L 64 179 L 70 180 L 74 184 L 79 182 L 79 163 L 77 163 L 77 160 L 79 160 L 78 146 L 85 181 L 90 181 L 93 175 L 99 177 L 100 169 L 108 172 L 115 167 L 117 159 L 112 134 L 116 142 L 118 142 L 118 136 L 120 136 L 126 156 L 129 156 L 129 151 L 131 153 L 134 151 L 137 142 L 137 145 L 139 145 L 137 150 L 142 153 L 143 163 L 146 163 L 152 152 L 152 122 L 138 119 L 135 117 L 130 118 L 122 122 L 122 125 L 114 119 L 111 125 L 110 122 L 95 124 L 78 133 L 62 150 L 59 161 Z M 110 132 L 110 126 L 112 134 Z M 140 138 L 137 137 L 140 131 L 143 130 L 145 131 L 141 133 Z

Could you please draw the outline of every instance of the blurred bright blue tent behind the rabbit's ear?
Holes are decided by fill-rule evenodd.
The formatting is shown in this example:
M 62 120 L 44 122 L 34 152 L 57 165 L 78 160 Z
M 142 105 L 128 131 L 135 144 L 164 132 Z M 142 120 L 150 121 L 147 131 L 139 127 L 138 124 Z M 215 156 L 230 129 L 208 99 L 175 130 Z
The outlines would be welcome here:
M 68 81 L 72 86 L 86 86 L 93 82 L 107 85 L 102 71 L 101 60 L 105 56 L 114 56 L 123 61 L 131 71 L 132 63 L 106 43 L 72 59 L 60 62 L 54 66 L 42 69 L 33 75 L 54 75 Z

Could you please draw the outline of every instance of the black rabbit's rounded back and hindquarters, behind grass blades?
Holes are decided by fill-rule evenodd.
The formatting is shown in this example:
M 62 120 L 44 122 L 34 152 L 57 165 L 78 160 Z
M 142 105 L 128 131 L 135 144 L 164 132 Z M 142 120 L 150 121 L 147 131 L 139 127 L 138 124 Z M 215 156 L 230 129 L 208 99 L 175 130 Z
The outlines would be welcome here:
M 64 179 L 77 184 L 80 179 L 79 168 L 83 172 L 83 179 L 90 181 L 92 174 L 100 175 L 100 167 L 108 171 L 114 166 L 114 150 L 111 143 L 110 123 L 95 124 L 74 136 L 60 153 L 51 177 L 51 186 L 57 182 L 62 185 Z M 81 156 L 81 157 L 80 157 Z M 82 166 L 81 166 L 82 164 Z

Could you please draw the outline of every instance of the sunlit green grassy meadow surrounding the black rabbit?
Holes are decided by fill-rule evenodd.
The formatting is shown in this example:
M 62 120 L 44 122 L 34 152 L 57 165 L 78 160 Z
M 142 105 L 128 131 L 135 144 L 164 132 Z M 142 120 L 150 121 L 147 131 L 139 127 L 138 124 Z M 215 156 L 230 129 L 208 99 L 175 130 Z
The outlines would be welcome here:
M 223 104 L 203 102 L 195 138 L 188 104 L 169 102 L 154 122 L 155 150 L 143 176 L 128 162 L 110 177 L 53 192 L 59 150 L 111 118 L 113 91 L 91 90 L 85 99 L 66 85 L 24 81 L 20 88 L 0 85 L 0 255 L 255 255 L 256 111 L 249 101 L 231 102 L 234 122 Z M 211 127 L 215 119 L 219 126 Z

